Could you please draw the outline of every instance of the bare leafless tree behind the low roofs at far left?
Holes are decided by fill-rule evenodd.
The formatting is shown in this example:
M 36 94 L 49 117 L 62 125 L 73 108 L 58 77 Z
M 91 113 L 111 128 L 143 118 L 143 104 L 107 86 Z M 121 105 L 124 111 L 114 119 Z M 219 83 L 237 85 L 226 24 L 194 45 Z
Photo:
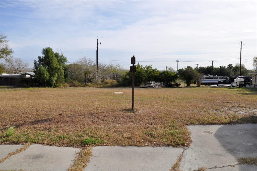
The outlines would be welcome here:
M 5 66 L 7 67 L 8 72 L 19 74 L 22 73 L 25 68 L 27 68 L 28 63 L 23 62 L 21 58 L 11 57 L 8 61 L 6 61 Z

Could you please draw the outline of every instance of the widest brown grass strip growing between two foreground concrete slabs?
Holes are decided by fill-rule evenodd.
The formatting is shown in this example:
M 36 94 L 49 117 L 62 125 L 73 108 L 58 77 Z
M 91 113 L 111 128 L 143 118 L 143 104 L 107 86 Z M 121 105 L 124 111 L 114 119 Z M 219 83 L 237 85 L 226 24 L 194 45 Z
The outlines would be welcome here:
M 68 171 L 83 171 L 92 156 L 92 147 L 83 148 L 78 152 L 78 156 L 74 160 L 73 165 Z

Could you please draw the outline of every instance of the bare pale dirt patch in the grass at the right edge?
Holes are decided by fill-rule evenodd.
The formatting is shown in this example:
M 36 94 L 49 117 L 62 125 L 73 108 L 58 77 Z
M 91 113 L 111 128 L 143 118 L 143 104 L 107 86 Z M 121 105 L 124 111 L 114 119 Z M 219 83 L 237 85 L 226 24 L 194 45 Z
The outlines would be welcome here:
M 226 107 L 219 110 L 214 110 L 214 112 L 219 114 L 238 114 L 238 115 L 254 115 L 257 116 L 257 108 L 248 108 L 248 107 Z

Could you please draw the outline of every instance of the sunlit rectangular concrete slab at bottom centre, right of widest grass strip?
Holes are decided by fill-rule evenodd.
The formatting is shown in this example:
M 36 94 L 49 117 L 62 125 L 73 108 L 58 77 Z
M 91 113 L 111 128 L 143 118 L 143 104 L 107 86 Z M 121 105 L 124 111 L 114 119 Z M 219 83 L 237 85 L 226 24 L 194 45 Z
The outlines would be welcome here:
M 94 147 L 84 171 L 168 171 L 182 151 L 171 147 Z

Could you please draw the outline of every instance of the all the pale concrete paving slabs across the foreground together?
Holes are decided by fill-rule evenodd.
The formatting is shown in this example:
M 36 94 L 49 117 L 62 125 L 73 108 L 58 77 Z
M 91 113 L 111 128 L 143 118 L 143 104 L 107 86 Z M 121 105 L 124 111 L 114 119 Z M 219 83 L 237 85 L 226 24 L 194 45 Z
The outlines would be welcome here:
M 256 171 L 257 166 L 235 165 L 237 158 L 257 157 L 257 124 L 188 126 L 192 143 L 184 150 L 182 171 L 200 167 L 210 171 Z M 0 158 L 23 145 L 0 145 Z M 2 170 L 64 171 L 73 164 L 79 148 L 33 144 L 0 164 Z M 84 171 L 168 171 L 182 148 L 93 147 Z M 235 165 L 234 167 L 228 165 Z

